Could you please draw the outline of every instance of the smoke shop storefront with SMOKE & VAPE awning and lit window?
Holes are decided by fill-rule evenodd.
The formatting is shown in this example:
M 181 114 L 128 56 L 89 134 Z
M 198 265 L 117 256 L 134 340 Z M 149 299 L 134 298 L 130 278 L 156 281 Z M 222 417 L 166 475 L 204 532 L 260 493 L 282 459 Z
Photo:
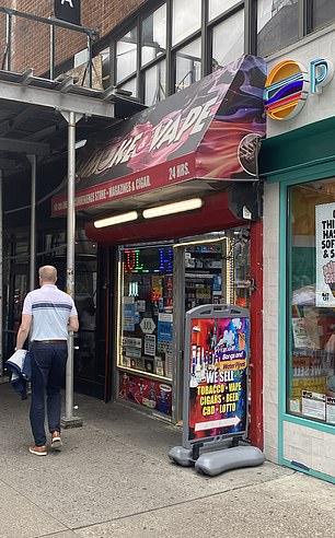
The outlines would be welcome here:
M 182 419 L 185 312 L 250 307 L 255 290 L 264 81 L 264 60 L 242 57 L 122 124 L 78 169 L 77 208 L 95 215 L 88 236 L 117 248 L 114 395 L 173 422 Z M 65 208 L 55 197 L 54 214 Z M 199 365 L 217 339 L 224 335 L 197 350 Z

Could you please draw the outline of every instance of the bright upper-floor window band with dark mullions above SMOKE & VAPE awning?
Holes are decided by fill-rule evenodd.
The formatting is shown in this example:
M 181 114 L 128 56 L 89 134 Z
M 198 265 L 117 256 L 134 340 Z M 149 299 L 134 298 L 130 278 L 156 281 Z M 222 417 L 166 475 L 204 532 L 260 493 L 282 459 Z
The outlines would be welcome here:
M 244 49 L 243 1 L 152 3 L 152 11 L 143 9 L 136 20 L 131 17 L 128 32 L 125 28 L 124 35 L 111 43 L 112 62 L 103 50 L 104 87 L 109 82 L 151 106 L 198 81 L 201 72 L 209 73 L 244 51 L 251 52 Z M 201 19 L 205 13 L 206 20 Z

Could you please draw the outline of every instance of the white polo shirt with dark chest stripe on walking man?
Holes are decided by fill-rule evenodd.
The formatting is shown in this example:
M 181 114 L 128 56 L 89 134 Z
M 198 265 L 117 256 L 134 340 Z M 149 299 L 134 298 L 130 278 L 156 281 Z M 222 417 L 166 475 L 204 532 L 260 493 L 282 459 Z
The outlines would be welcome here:
M 77 316 L 72 297 L 55 284 L 43 284 L 30 292 L 22 314 L 33 316 L 31 340 L 67 340 L 70 316 Z

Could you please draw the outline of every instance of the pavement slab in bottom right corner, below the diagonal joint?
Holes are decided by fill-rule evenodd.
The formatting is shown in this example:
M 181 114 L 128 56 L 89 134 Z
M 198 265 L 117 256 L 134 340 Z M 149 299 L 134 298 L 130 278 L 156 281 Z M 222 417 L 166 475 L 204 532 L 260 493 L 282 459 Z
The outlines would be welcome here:
M 189 538 L 238 536 L 239 538 L 333 537 L 334 487 L 310 477 L 285 477 L 267 483 L 232 490 L 197 501 L 102 525 L 77 529 L 79 538 Z M 316 484 L 316 487 L 315 487 Z M 287 498 L 286 493 L 289 491 Z

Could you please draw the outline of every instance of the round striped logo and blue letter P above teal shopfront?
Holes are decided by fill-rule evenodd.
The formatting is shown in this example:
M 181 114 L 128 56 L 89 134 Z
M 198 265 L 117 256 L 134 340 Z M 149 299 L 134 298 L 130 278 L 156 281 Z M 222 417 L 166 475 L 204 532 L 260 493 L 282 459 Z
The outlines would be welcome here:
M 284 60 L 270 71 L 264 89 L 266 114 L 275 120 L 291 119 L 301 110 L 310 94 L 321 94 L 331 82 L 334 66 L 319 58 L 307 69 L 299 61 Z

